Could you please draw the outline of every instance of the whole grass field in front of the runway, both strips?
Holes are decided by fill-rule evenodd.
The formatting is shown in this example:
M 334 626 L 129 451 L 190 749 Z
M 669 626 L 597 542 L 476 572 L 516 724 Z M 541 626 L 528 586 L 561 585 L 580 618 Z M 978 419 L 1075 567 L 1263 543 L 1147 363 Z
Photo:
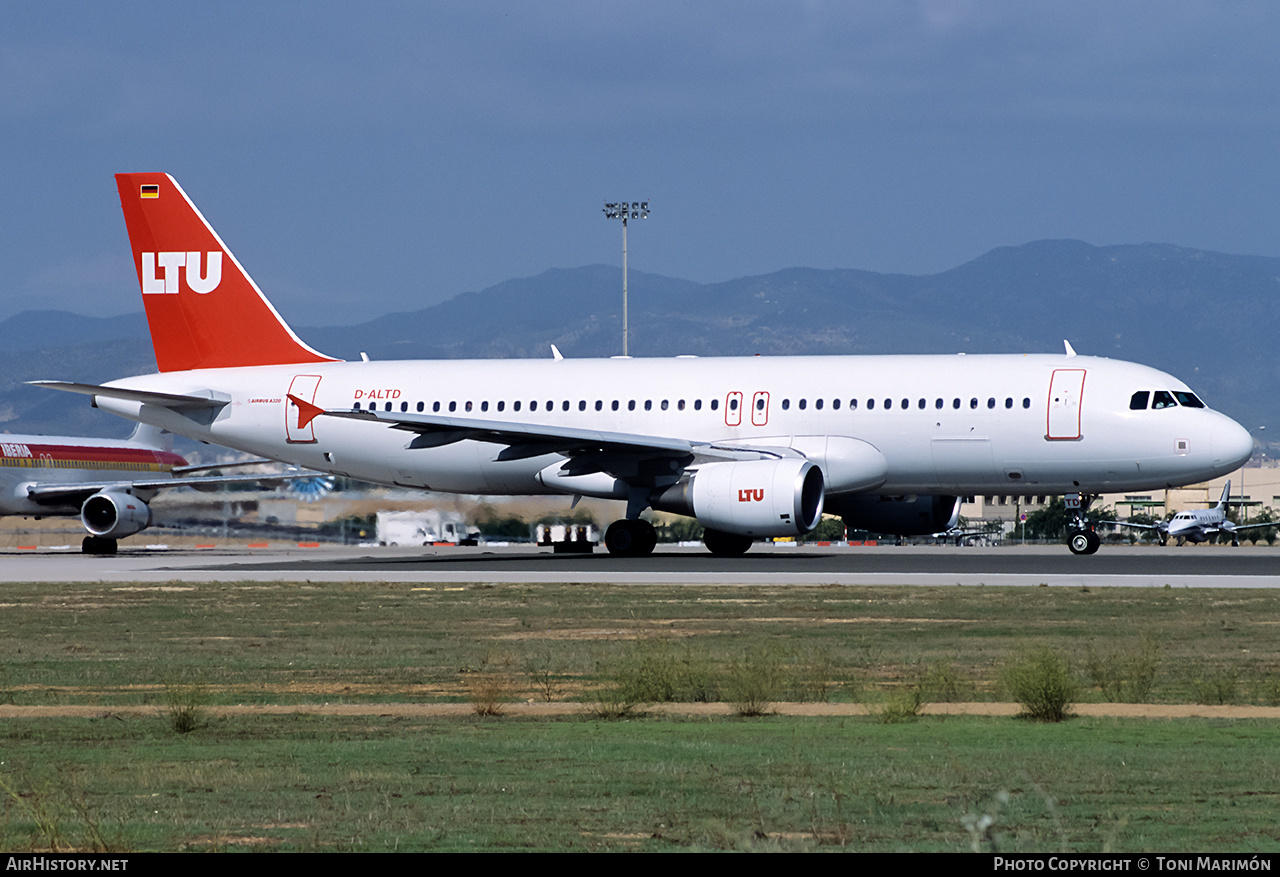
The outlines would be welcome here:
M 1268 721 L 214 708 L 595 702 L 636 676 L 728 700 L 744 673 L 773 700 L 874 705 L 940 675 L 932 698 L 1000 699 L 1036 647 L 1084 700 L 1142 658 L 1149 702 L 1275 704 L 1277 624 L 1266 590 L 10 583 L 0 700 L 95 708 L 0 726 L 0 846 L 1274 850 Z M 136 704 L 155 714 L 111 712 Z

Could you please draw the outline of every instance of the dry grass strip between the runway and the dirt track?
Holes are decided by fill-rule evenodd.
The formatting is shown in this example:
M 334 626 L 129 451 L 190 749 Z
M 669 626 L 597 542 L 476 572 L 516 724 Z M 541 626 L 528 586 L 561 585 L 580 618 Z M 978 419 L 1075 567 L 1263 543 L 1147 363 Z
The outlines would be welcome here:
M 1091 649 L 1157 644 L 1153 703 L 1229 677 L 1270 703 L 1280 672 L 1267 590 L 10 583 L 0 602 L 0 702 L 18 704 L 163 703 L 182 677 L 209 705 L 467 702 L 497 662 L 513 698 L 586 699 L 637 640 L 666 640 L 710 682 L 777 654 L 781 699 L 860 700 L 932 664 L 993 699 L 1001 667 L 1038 645 L 1083 668 Z

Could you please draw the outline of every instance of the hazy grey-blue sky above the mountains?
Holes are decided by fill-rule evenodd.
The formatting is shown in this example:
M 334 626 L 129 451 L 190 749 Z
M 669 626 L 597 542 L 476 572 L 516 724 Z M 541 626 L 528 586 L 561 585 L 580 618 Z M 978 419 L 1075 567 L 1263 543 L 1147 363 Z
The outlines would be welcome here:
M 1280 4 L 0 5 L 0 316 L 141 310 L 166 170 L 298 325 L 548 268 L 933 273 L 1038 238 L 1280 255 Z M 3 343 L 3 342 L 0 342 Z

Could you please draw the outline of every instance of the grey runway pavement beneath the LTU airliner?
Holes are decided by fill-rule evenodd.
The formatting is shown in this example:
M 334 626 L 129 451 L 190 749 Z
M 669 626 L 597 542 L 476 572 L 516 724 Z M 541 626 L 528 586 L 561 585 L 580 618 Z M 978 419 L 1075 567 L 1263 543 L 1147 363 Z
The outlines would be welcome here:
M 701 548 L 659 548 L 646 558 L 554 554 L 524 547 L 148 551 L 115 557 L 0 553 L 8 581 L 404 581 L 792 585 L 1012 585 L 1091 588 L 1277 588 L 1280 548 L 771 547 L 717 558 Z

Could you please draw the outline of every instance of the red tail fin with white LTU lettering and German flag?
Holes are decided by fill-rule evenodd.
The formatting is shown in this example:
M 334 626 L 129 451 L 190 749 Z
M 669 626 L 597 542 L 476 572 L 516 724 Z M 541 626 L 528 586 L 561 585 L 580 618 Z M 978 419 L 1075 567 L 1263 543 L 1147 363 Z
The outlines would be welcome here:
M 169 174 L 116 174 L 160 371 L 333 362 L 305 344 Z

